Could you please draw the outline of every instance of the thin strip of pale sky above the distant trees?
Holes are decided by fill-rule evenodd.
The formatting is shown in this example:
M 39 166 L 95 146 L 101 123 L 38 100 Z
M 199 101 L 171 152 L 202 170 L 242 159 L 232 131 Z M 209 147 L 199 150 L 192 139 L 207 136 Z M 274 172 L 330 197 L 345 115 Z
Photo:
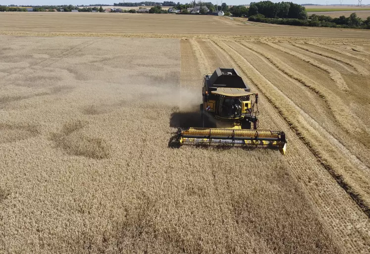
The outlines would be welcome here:
M 142 0 L 126 0 L 126 2 L 140 2 Z M 162 0 L 153 0 L 153 1 L 162 1 Z M 173 0 L 177 2 L 179 0 Z M 190 2 L 191 0 L 180 0 L 181 3 Z M 204 0 L 210 1 L 210 0 Z M 211 2 L 216 3 L 221 2 L 221 0 L 211 0 Z M 251 1 L 259 0 L 223 0 L 227 4 L 249 4 Z M 272 0 L 273 2 L 279 2 L 282 0 Z M 339 4 L 339 0 L 285 0 L 292 1 L 295 3 L 315 3 L 315 4 Z M 17 5 L 59 5 L 59 4 L 94 4 L 94 3 L 103 3 L 103 4 L 113 4 L 113 2 L 123 2 L 123 0 L 0 0 L 0 4 L 17 4 Z M 357 4 L 358 0 L 343 0 L 343 4 Z M 370 4 L 370 0 L 363 0 L 362 4 Z

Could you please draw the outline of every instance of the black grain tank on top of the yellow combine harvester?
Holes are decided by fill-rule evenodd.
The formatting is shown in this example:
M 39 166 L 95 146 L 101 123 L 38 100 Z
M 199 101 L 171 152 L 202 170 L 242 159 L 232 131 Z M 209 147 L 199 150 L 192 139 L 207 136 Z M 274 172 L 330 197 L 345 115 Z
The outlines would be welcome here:
M 217 68 L 211 76 L 206 75 L 206 88 L 209 92 L 216 91 L 217 88 L 241 88 L 251 92 L 235 69 Z

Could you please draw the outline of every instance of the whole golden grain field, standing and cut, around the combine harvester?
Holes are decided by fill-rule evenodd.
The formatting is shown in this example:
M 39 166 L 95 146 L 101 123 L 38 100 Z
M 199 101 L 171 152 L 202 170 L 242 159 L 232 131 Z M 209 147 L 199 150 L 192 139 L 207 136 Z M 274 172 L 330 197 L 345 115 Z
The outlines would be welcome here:
M 370 252 L 368 34 L 34 14 L 0 13 L 0 253 Z M 172 146 L 216 67 L 286 156 Z

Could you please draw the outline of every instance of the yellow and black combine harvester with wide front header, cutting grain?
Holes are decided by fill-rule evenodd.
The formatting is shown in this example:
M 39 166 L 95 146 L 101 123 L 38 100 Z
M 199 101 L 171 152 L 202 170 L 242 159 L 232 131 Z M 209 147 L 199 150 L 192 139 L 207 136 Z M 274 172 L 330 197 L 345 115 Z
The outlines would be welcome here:
M 285 154 L 284 132 L 257 130 L 258 94 L 251 93 L 236 70 L 217 68 L 204 75 L 200 110 L 203 128 L 178 128 L 179 145 L 265 147 Z

